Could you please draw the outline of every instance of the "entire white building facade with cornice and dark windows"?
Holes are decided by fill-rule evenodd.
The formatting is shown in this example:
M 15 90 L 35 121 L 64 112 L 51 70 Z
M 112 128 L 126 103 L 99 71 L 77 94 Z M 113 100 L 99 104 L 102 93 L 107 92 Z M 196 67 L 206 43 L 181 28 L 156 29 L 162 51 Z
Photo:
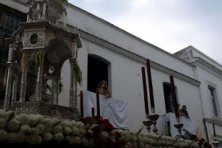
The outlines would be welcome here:
M 28 11 L 22 0 L 2 0 L 0 4 Z M 172 55 L 71 4 L 66 22 L 79 33 L 82 43 L 78 63 L 83 81 L 78 91 L 94 91 L 100 79 L 107 80 L 112 97 L 128 102 L 129 129 L 138 131 L 145 120 L 141 67 L 150 59 L 155 111 L 160 118 L 170 112 L 169 75 L 173 75 L 178 102 L 187 106 L 196 134 L 209 141 L 222 136 L 220 64 L 192 47 Z M 69 78 L 67 61 L 62 68 L 60 105 L 68 106 Z

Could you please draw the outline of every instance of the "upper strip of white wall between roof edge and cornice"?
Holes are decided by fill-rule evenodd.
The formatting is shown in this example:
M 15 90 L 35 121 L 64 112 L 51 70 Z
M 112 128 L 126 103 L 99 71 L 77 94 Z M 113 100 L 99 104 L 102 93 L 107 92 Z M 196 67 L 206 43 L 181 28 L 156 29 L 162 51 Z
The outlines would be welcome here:
M 182 60 L 177 59 L 168 52 L 147 43 L 75 6 L 69 5 L 67 8 L 67 13 L 68 24 L 76 26 L 77 28 L 107 40 L 128 51 L 149 58 L 156 63 L 194 78 L 192 66 Z

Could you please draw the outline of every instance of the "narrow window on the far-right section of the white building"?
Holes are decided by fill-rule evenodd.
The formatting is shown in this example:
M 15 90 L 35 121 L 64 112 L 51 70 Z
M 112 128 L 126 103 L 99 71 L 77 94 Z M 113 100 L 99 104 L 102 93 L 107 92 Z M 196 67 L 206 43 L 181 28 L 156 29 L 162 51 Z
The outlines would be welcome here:
M 210 100 L 212 103 L 213 115 L 218 116 L 218 106 L 217 106 L 217 98 L 216 98 L 216 89 L 212 86 L 208 86 Z

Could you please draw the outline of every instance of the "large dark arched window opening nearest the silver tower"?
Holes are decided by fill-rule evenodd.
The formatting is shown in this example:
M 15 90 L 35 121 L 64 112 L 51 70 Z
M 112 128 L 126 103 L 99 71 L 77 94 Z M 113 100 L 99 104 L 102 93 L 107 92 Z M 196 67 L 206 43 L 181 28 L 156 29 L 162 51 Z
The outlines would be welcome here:
M 106 80 L 110 89 L 110 62 L 106 59 L 90 54 L 88 55 L 88 87 L 95 92 L 100 80 Z

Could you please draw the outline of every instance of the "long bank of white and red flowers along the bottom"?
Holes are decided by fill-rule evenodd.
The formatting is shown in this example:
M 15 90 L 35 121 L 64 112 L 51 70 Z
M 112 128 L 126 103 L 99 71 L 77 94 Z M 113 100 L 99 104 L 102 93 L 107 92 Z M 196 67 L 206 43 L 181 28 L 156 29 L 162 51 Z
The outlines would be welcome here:
M 86 117 L 80 121 L 44 117 L 38 114 L 15 114 L 0 110 L 0 143 L 67 143 L 81 147 L 198 148 L 200 141 L 169 136 L 133 133 L 115 129 L 107 119 Z

